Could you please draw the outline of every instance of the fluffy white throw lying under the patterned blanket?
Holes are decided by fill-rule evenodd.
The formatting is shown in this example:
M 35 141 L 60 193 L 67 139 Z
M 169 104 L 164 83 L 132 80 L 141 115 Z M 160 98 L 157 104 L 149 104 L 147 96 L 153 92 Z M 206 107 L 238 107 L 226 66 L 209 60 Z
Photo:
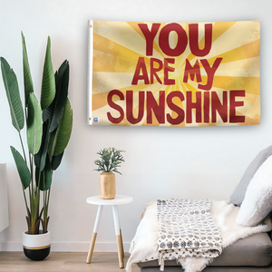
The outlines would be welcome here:
M 218 226 L 222 237 L 222 248 L 227 248 L 239 238 L 246 238 L 260 232 L 271 230 L 271 220 L 267 217 L 256 227 L 243 227 L 235 223 L 239 207 L 228 205 L 227 201 L 212 200 L 211 215 Z M 143 212 L 135 237 L 131 241 L 126 271 L 131 272 L 131 265 L 158 259 L 160 270 L 163 271 L 163 260 L 158 252 L 159 223 L 157 219 L 157 200 L 151 201 Z M 209 257 L 180 257 L 177 260 L 185 272 L 199 272 L 213 261 Z

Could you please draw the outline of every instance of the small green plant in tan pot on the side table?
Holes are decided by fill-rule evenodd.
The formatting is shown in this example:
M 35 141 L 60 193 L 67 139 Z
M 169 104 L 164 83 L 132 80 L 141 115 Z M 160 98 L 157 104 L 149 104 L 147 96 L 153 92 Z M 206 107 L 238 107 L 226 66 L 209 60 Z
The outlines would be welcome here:
M 105 148 L 98 151 L 100 160 L 94 160 L 94 163 L 98 166 L 97 171 L 102 171 L 99 175 L 99 195 L 102 199 L 114 199 L 116 196 L 115 186 L 115 174 L 113 172 L 121 174 L 117 170 L 121 166 L 121 162 L 124 162 L 120 150 L 115 148 Z

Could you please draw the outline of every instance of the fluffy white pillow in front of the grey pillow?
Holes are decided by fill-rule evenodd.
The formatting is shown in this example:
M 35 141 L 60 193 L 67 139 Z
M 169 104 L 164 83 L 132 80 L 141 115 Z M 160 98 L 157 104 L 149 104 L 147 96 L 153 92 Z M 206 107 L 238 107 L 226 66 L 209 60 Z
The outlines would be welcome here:
M 236 223 L 253 227 L 272 210 L 272 156 L 257 170 L 248 184 L 245 199 L 238 212 Z

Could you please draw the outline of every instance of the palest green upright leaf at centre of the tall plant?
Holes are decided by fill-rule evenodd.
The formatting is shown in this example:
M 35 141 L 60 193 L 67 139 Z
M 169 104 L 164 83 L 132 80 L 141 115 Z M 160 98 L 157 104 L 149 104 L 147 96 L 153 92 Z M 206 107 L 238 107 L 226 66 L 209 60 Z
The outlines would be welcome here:
M 30 153 L 34 155 L 41 147 L 43 119 L 41 106 L 33 92 L 29 95 L 27 115 L 27 144 Z

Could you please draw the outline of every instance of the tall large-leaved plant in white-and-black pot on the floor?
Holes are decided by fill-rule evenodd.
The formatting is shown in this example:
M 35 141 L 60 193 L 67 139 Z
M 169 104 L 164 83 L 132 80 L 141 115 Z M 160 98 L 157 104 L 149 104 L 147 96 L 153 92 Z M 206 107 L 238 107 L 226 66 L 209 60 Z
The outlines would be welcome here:
M 53 73 L 51 40 L 48 37 L 44 60 L 41 101 L 34 95 L 24 34 L 24 109 L 17 78 L 13 69 L 1 57 L 1 71 L 12 123 L 19 133 L 22 154 L 11 146 L 22 183 L 26 209 L 27 231 L 23 234 L 24 254 L 31 259 L 43 259 L 50 252 L 48 231 L 48 207 L 53 170 L 63 158 L 63 151 L 70 140 L 73 126 L 73 110 L 68 100 L 69 63 L 64 61 Z M 24 118 L 25 115 L 25 118 Z M 28 152 L 24 149 L 21 131 L 26 122 Z M 42 229 L 40 229 L 42 226 Z M 41 238 L 42 244 L 37 240 Z

